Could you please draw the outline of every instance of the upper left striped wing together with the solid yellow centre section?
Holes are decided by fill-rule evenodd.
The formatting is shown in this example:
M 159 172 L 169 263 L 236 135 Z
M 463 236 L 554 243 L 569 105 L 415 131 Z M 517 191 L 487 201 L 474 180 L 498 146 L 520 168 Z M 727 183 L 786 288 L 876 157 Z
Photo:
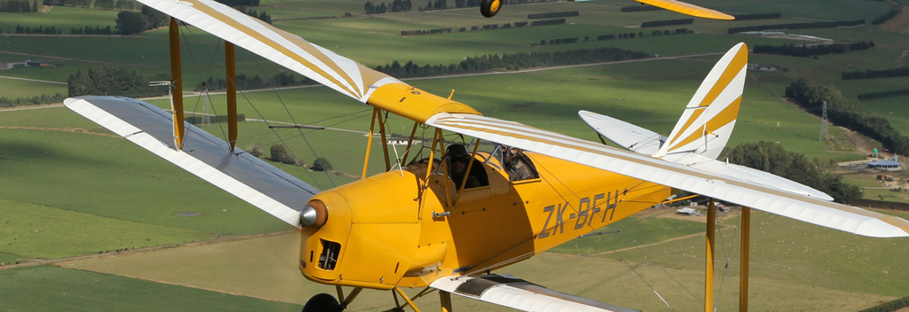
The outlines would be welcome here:
M 416 122 L 425 122 L 438 112 L 479 114 L 461 102 L 423 92 L 215 1 L 138 1 L 357 101 Z

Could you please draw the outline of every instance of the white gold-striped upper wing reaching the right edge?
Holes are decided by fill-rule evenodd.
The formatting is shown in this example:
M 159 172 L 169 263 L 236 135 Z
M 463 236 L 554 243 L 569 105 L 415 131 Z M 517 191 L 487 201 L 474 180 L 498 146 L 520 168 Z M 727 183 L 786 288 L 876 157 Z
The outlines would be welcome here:
M 472 114 L 440 113 L 426 124 L 831 229 L 878 238 L 909 237 L 909 221 L 904 219 L 700 171 L 518 122 Z

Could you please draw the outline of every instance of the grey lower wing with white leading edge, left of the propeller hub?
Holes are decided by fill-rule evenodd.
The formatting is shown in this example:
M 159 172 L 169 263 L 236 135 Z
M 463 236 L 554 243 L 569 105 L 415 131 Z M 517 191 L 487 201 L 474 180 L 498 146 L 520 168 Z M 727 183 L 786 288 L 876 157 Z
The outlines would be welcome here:
M 274 166 L 185 123 L 183 151 L 174 146 L 169 112 L 147 102 L 113 96 L 82 96 L 65 100 L 70 110 L 123 136 L 234 196 L 300 227 L 300 213 L 319 190 Z

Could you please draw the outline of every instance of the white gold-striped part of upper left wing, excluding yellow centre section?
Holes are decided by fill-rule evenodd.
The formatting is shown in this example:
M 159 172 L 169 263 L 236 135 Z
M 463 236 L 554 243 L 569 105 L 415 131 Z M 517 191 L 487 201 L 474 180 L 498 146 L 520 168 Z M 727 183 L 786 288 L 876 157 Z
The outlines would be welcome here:
M 215 1 L 139 0 L 139 2 L 303 74 L 360 102 L 366 102 L 378 86 L 401 83 L 385 73 L 376 72 L 361 63 L 311 44 L 295 34 L 277 29 Z

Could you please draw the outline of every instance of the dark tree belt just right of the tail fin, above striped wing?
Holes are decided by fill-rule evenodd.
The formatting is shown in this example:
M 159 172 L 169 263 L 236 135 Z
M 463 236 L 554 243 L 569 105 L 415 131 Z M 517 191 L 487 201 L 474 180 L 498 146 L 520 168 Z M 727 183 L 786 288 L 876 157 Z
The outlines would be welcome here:
M 836 161 L 808 159 L 802 153 L 785 151 L 774 142 L 742 143 L 725 151 L 725 154 L 729 162 L 794 180 L 827 193 L 836 202 L 848 204 L 863 195 L 861 188 L 844 182 L 842 176 L 834 173 Z

